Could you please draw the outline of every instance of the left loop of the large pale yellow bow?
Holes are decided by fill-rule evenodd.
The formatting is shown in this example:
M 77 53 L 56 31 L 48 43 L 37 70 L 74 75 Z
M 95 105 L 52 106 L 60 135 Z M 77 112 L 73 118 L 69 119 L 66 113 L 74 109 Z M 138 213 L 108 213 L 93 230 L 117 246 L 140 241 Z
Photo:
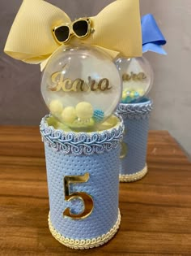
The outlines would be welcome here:
M 23 0 L 6 41 L 5 52 L 26 63 L 41 63 L 59 44 L 52 28 L 69 23 L 65 12 L 42 0 Z

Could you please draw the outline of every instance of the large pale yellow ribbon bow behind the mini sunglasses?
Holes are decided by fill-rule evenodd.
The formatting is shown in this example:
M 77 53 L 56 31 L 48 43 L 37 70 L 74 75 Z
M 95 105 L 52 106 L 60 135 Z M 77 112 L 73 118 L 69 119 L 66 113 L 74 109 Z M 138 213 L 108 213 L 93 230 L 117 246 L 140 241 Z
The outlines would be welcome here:
M 117 0 L 91 17 L 94 33 L 70 43 L 98 46 L 112 57 L 142 56 L 142 33 L 138 0 Z M 5 53 L 26 63 L 42 63 L 60 46 L 53 27 L 70 24 L 68 15 L 43 0 L 23 0 L 6 41 Z

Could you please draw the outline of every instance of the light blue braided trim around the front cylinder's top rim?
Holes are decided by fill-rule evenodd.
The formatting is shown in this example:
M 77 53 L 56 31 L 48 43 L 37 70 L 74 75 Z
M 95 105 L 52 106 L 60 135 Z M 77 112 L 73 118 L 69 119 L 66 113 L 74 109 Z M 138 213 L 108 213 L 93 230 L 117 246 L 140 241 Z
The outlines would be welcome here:
M 124 124 L 120 116 L 116 127 L 103 132 L 64 132 L 48 126 L 46 115 L 40 123 L 42 140 L 53 150 L 63 154 L 104 154 L 116 149 L 123 138 Z

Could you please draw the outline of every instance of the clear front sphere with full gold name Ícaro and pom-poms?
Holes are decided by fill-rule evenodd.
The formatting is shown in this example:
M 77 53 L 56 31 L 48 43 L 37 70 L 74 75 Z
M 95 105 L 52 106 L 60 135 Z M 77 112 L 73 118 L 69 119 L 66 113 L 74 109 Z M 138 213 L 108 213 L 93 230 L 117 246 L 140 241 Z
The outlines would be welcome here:
M 103 50 L 61 46 L 45 67 L 41 93 L 62 124 L 92 127 L 108 119 L 121 101 L 121 76 Z

